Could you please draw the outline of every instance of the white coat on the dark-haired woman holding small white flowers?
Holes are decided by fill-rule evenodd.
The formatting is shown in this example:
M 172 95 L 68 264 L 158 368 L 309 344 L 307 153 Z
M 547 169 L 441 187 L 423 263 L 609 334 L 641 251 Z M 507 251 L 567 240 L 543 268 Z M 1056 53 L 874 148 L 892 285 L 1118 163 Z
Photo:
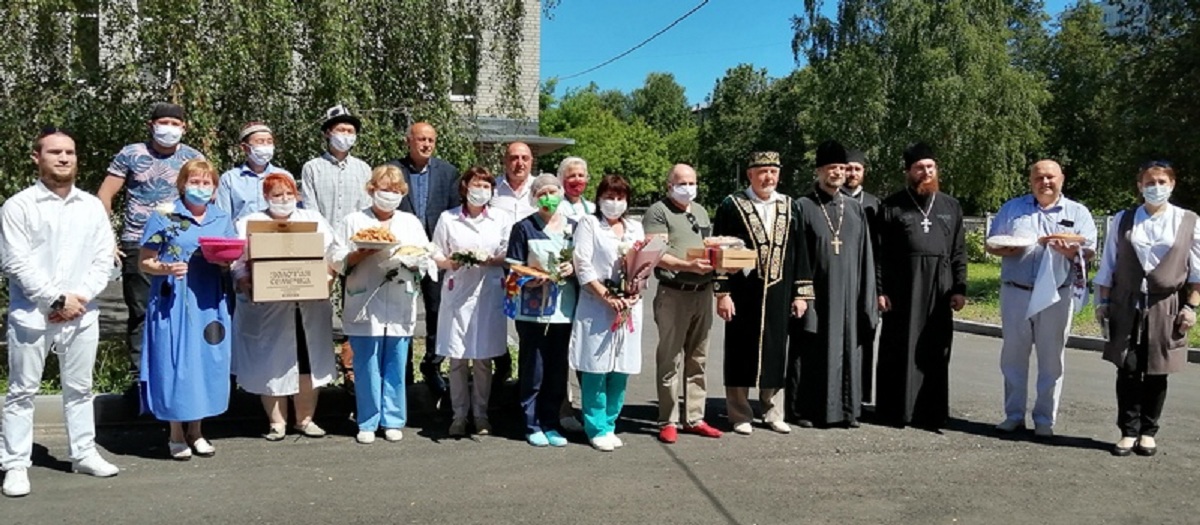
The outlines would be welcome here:
M 486 210 L 476 218 L 462 207 L 442 212 L 433 230 L 433 245 L 443 257 L 478 249 L 488 257 L 509 249 L 512 219 L 508 213 Z M 508 321 L 504 316 L 504 270 L 499 266 L 460 267 L 442 280 L 442 308 L 438 310 L 439 356 L 456 360 L 490 360 L 508 351 Z

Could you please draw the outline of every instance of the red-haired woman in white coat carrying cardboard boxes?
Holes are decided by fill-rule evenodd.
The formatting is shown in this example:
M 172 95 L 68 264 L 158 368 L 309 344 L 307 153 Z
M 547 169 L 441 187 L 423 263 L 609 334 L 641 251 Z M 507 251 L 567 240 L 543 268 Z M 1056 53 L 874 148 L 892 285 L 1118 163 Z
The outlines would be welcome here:
M 238 236 L 246 239 L 252 221 L 306 222 L 317 225 L 328 252 L 334 242 L 329 223 L 316 210 L 299 210 L 300 193 L 290 175 L 270 174 L 263 179 L 266 210 L 238 221 Z M 334 307 L 329 300 L 253 302 L 250 262 L 246 257 L 233 265 L 238 289 L 234 309 L 233 363 L 238 384 L 262 397 L 266 411 L 268 441 L 287 434 L 288 397 L 295 412 L 295 432 L 322 437 L 325 430 L 312 422 L 317 411 L 317 388 L 334 380 Z

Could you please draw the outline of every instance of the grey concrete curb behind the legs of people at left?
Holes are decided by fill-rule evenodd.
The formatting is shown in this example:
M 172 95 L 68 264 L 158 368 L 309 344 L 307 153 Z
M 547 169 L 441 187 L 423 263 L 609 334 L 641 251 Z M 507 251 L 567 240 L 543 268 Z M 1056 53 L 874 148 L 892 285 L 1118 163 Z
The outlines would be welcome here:
M 354 412 L 354 396 L 341 386 L 319 388 L 316 420 L 347 420 Z M 496 384 L 492 387 L 491 409 L 508 410 L 520 403 L 516 384 Z M 424 382 L 409 385 L 408 415 L 431 416 L 438 412 L 438 404 Z M 446 404 L 442 404 L 444 410 Z M 162 424 L 154 416 L 138 415 L 121 394 L 96 394 L 94 402 L 96 427 L 127 427 Z M 229 397 L 229 409 L 224 414 L 205 420 L 211 422 L 262 422 L 266 423 L 258 396 L 236 391 Z M 62 396 L 46 394 L 34 398 L 34 427 L 53 428 L 62 426 Z

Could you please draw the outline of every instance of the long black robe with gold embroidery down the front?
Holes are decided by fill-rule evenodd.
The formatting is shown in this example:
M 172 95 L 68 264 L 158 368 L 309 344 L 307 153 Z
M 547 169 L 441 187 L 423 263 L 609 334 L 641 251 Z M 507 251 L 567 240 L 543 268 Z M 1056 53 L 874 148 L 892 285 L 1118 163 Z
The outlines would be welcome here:
M 791 304 L 812 297 L 799 206 L 786 195 L 773 205 L 770 237 L 744 193 L 726 197 L 713 221 L 714 235 L 742 239 L 758 253 L 749 276 L 738 271 L 714 279 L 715 292 L 730 294 L 736 310 L 725 325 L 725 386 L 784 387 Z

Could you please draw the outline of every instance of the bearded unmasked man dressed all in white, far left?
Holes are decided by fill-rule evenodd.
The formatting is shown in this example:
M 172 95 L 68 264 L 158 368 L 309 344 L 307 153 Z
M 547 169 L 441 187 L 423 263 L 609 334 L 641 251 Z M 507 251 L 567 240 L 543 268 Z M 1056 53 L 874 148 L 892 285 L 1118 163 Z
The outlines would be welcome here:
M 108 284 L 116 242 L 104 205 L 74 186 L 74 139 L 58 128 L 43 129 L 32 158 L 37 183 L 0 211 L 0 266 L 11 297 L 0 465 L 7 472 L 4 495 L 13 497 L 30 491 L 34 397 L 49 351 L 59 356 L 72 470 L 97 477 L 119 472 L 96 452 L 91 393 L 100 342 L 92 300 Z

